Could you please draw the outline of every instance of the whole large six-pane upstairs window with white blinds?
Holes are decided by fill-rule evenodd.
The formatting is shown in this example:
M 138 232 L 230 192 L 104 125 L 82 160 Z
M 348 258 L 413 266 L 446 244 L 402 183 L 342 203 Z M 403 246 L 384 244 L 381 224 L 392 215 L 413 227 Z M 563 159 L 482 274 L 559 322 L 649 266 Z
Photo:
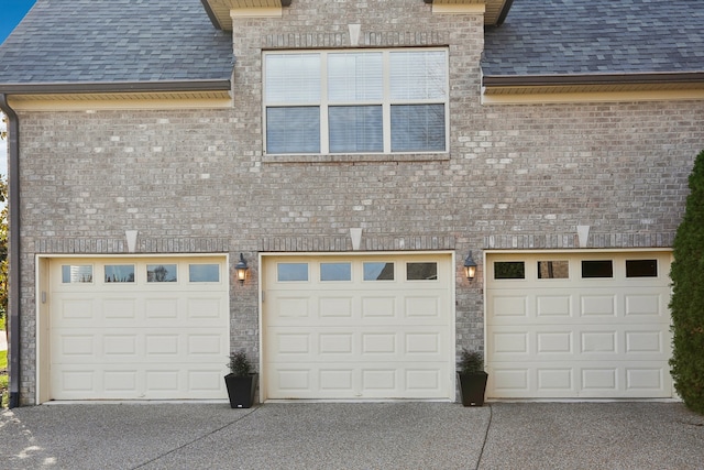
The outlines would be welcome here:
M 268 154 L 444 152 L 439 48 L 264 54 Z

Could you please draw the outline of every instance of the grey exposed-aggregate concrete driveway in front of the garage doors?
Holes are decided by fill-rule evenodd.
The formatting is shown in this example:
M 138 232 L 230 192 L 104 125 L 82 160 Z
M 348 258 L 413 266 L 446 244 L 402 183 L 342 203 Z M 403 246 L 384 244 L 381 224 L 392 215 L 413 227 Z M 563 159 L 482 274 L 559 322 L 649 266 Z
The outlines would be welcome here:
M 66 404 L 0 412 L 4 469 L 702 469 L 679 403 Z

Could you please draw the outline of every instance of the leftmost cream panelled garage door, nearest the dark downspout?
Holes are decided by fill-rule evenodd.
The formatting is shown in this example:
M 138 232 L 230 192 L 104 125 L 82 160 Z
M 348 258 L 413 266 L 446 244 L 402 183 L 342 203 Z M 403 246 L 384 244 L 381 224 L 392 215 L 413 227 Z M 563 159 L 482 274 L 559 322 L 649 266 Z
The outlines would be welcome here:
M 52 260 L 51 397 L 227 398 L 226 266 L 223 256 Z

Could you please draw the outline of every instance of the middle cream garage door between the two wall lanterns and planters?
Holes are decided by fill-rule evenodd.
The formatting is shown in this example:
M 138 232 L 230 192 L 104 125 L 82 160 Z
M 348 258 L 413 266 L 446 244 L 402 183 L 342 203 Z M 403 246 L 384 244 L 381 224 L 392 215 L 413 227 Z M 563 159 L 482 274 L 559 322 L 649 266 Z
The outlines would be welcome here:
M 265 398 L 454 400 L 452 256 L 265 256 Z

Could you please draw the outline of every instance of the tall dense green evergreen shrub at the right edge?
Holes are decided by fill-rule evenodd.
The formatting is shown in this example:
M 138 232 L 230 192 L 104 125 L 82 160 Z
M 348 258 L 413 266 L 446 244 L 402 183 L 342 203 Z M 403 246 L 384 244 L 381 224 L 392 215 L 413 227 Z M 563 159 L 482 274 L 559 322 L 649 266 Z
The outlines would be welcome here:
M 694 161 L 690 195 L 673 243 L 672 359 L 674 389 L 704 414 L 704 151 Z

